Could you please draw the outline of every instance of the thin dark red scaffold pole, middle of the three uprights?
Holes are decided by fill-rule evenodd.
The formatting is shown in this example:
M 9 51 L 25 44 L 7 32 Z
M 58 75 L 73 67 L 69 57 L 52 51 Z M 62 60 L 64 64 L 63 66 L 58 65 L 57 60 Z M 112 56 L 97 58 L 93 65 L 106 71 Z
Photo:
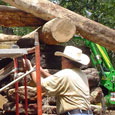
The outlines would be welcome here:
M 26 55 L 24 55 L 24 59 L 26 60 Z M 26 67 L 24 66 L 24 72 L 26 72 Z M 25 87 L 25 115 L 28 115 L 28 99 L 27 99 L 27 80 L 24 77 L 24 87 Z

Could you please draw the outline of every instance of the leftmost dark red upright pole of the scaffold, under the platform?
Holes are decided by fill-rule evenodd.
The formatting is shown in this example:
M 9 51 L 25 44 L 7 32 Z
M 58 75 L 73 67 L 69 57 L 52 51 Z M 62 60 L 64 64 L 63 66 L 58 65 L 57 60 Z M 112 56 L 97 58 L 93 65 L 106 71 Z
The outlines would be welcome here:
M 17 78 L 17 73 L 18 73 L 17 58 L 14 58 L 14 68 L 16 69 L 16 71 L 14 72 L 14 79 L 16 79 Z M 16 115 L 19 115 L 18 82 L 15 83 L 15 94 L 16 94 Z

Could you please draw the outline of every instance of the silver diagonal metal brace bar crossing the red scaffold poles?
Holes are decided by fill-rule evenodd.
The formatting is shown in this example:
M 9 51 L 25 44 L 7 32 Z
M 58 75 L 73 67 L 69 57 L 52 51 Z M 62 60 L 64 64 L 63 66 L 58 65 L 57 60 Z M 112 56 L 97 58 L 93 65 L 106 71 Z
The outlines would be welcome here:
M 18 77 L 17 79 L 15 79 L 14 81 L 10 82 L 9 84 L 5 85 L 4 87 L 2 87 L 0 89 L 0 92 L 4 91 L 7 87 L 15 84 L 17 81 L 21 80 L 22 78 L 24 78 L 25 76 L 27 76 L 28 74 L 30 74 L 31 72 L 35 71 L 35 66 L 33 67 L 33 69 L 31 69 L 30 71 L 26 72 L 25 74 L 23 74 L 22 76 Z

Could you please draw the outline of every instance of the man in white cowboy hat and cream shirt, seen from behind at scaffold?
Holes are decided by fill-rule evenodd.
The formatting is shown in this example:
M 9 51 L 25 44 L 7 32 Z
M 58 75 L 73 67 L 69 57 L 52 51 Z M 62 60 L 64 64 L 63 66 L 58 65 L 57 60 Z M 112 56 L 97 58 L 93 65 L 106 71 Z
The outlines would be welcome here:
M 87 76 L 80 70 L 81 65 L 87 65 L 90 59 L 82 50 L 74 46 L 66 46 L 64 52 L 55 52 L 62 57 L 62 70 L 50 75 L 40 68 L 46 78 L 41 79 L 42 90 L 50 96 L 56 96 L 57 114 L 59 115 L 93 115 L 89 101 L 89 85 Z M 27 62 L 29 69 L 31 63 Z M 36 82 L 36 74 L 32 73 Z

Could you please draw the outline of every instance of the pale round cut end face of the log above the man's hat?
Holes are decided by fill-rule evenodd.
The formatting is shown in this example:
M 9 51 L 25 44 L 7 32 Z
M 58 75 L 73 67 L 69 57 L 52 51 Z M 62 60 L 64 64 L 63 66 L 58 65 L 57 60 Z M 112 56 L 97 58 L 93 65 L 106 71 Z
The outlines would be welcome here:
M 67 18 L 57 19 L 57 23 L 52 27 L 52 36 L 57 42 L 68 42 L 75 32 L 75 25 Z

